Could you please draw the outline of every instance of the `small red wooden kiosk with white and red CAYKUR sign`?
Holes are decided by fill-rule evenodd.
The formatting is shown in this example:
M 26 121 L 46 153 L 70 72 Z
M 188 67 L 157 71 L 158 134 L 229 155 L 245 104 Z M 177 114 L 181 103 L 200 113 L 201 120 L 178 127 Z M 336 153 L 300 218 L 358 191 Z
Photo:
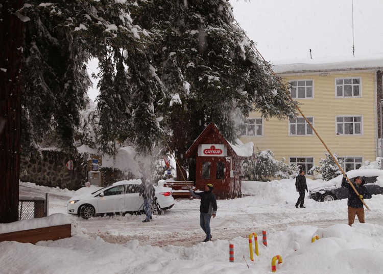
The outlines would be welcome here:
M 241 197 L 241 162 L 254 156 L 253 147 L 231 144 L 210 123 L 184 155 L 196 158 L 196 188 L 204 190 L 211 183 L 217 199 Z

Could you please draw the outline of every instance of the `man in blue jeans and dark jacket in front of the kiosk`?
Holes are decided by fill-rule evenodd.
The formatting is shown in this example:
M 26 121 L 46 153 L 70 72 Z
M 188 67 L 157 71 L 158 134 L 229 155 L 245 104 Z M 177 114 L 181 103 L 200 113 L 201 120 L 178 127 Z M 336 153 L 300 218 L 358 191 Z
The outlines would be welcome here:
M 189 189 L 190 194 L 197 199 L 201 199 L 200 205 L 200 226 L 203 231 L 206 233 L 206 238 L 204 242 L 211 240 L 211 230 L 210 230 L 210 219 L 211 215 L 216 217 L 217 214 L 217 200 L 216 196 L 213 194 L 213 185 L 207 184 L 205 186 L 205 191 L 196 192 L 191 187 Z

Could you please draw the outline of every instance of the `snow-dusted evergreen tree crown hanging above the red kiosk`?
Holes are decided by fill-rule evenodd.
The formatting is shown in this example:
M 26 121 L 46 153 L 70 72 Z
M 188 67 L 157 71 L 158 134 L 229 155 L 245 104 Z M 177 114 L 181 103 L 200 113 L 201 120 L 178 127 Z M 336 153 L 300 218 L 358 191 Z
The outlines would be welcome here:
M 228 1 L 139 0 L 131 9 L 133 23 L 151 34 L 146 52 L 166 87 L 164 103 L 156 111 L 174 134 L 169 139 L 176 151 L 186 151 L 211 121 L 235 142 L 238 116 L 253 110 L 266 119 L 294 115 L 288 85 L 260 58 Z

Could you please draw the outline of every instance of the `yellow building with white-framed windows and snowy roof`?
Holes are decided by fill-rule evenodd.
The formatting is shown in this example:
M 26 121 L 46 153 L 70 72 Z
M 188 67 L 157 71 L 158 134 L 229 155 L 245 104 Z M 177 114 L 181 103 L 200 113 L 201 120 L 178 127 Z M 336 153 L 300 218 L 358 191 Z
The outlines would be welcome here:
M 273 67 L 292 84 L 291 96 L 330 151 L 345 160 L 346 171 L 374 161 L 380 151 L 381 66 L 383 59 Z M 300 114 L 297 119 L 266 121 L 260 113 L 251 113 L 241 141 L 253 142 L 255 150 L 270 149 L 276 159 L 297 163 L 306 172 L 318 166 L 326 152 Z

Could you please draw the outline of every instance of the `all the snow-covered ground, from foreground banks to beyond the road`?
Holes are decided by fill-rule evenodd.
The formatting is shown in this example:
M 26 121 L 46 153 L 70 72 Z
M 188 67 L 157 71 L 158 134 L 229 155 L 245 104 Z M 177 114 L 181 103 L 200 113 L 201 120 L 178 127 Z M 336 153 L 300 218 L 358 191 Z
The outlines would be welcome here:
M 307 180 L 314 188 L 321 180 Z M 91 187 L 93 188 L 93 187 Z M 72 237 L 36 245 L 0 242 L 1 273 L 270 273 L 280 255 L 280 273 L 379 273 L 383 268 L 383 195 L 366 200 L 366 224 L 347 225 L 347 200 L 295 208 L 294 180 L 244 182 L 244 198 L 218 200 L 211 221 L 213 241 L 199 227 L 199 200 L 178 200 L 163 215 L 93 217 L 66 213 L 78 191 L 20 183 L 21 196 L 50 193 L 50 214 L 72 224 Z M 56 215 L 55 215 L 56 217 Z M 65 223 L 65 220 L 62 221 Z M 44 221 L 41 221 L 44 222 Z M 5 228 L 0 224 L 0 231 Z M 24 225 L 25 226 L 25 225 Z M 262 245 L 262 230 L 268 246 Z M 248 236 L 258 234 L 259 257 L 250 260 Z M 312 243 L 312 237 L 319 240 Z M 234 263 L 229 244 L 234 244 Z M 295 251 L 295 249 L 297 251 Z

